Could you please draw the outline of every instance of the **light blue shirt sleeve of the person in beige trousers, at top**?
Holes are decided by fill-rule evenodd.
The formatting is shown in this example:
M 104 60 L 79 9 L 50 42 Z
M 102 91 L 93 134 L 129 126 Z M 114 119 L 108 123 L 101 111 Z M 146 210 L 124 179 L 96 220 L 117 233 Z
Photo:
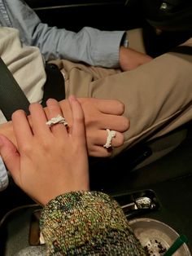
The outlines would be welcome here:
M 36 13 L 22 0 L 5 0 L 11 26 L 20 30 L 21 41 L 37 46 L 46 60 L 119 67 L 120 42 L 124 31 L 101 31 L 85 27 L 78 33 L 41 23 Z

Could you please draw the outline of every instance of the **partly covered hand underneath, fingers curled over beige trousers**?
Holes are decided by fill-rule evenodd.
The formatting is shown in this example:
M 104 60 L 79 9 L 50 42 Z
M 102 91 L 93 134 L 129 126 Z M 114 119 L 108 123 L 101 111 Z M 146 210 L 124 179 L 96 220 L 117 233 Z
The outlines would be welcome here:
M 113 148 L 124 143 L 124 131 L 129 129 L 129 120 L 123 116 L 124 104 L 116 99 L 79 98 L 78 101 L 85 115 L 85 133 L 90 157 L 110 157 L 111 150 L 103 148 L 106 143 L 106 129 L 116 130 L 116 137 L 112 139 Z M 72 126 L 72 111 L 68 99 L 59 102 L 63 116 Z M 47 108 L 45 108 L 47 111 Z M 30 117 L 28 117 L 30 120 Z M 12 122 L 0 126 L 0 133 L 7 136 L 16 145 Z

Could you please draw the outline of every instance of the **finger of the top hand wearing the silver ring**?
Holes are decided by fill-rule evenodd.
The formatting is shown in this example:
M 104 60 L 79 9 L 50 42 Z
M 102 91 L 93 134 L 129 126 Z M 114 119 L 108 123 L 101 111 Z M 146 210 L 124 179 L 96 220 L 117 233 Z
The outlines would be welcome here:
M 61 108 L 59 106 L 59 102 L 56 99 L 48 99 L 46 101 L 47 106 L 47 119 L 51 119 L 53 117 L 58 117 L 59 115 L 63 117 L 63 113 L 61 111 Z M 54 133 L 54 135 L 63 136 L 67 135 L 68 131 L 66 129 L 66 126 L 63 125 L 63 123 L 55 124 L 54 126 L 50 126 L 50 129 Z

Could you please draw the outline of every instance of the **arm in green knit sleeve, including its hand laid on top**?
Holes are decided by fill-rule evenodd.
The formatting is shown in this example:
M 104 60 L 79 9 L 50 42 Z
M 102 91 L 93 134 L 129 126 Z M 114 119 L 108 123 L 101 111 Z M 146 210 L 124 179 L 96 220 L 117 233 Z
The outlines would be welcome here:
M 103 193 L 89 192 L 84 114 L 75 98 L 69 103 L 71 130 L 63 124 L 46 125 L 62 115 L 58 102 L 50 99 L 46 113 L 40 104 L 30 105 L 30 123 L 22 110 L 13 114 L 18 150 L 0 136 L 0 152 L 15 183 L 46 205 L 41 230 L 48 254 L 144 255 L 120 206 Z

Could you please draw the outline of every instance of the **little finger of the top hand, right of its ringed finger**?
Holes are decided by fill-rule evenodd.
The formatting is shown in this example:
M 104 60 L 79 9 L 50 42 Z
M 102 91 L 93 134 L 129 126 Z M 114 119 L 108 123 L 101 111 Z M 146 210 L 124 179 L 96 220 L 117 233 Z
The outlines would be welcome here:
M 85 143 L 85 120 L 81 104 L 73 95 L 69 96 L 68 100 L 72 108 L 72 135 L 81 140 L 81 143 Z

